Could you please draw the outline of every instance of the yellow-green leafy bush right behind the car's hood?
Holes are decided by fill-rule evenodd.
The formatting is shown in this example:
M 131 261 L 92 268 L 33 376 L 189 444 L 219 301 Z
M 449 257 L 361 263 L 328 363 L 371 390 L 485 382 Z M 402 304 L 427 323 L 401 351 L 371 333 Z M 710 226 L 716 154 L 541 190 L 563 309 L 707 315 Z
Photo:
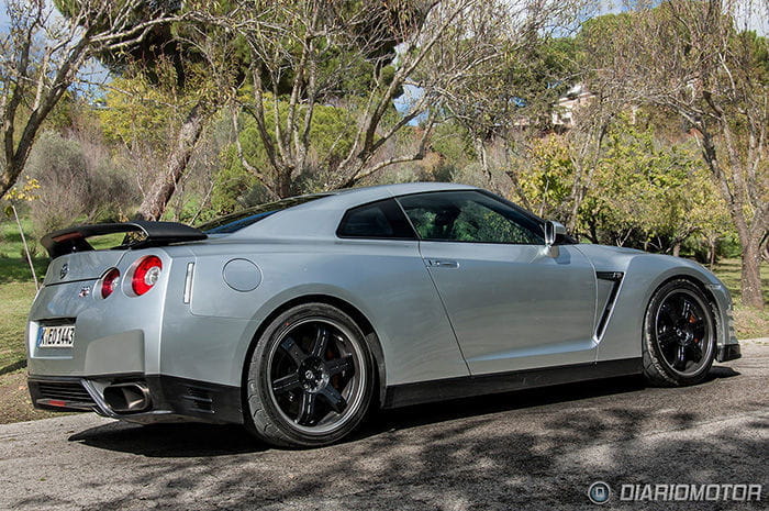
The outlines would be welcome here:
M 678 255 L 690 236 L 712 231 L 723 201 L 690 147 L 659 141 L 643 113 L 629 121 L 623 114 L 608 131 L 580 223 L 594 243 Z

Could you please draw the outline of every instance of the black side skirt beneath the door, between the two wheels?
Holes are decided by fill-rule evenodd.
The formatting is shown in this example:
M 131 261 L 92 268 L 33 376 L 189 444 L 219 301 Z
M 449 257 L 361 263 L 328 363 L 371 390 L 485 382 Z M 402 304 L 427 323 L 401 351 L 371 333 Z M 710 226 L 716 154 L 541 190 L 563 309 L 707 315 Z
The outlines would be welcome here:
M 510 392 L 534 387 L 572 384 L 616 376 L 638 375 L 640 358 L 623 358 L 588 364 L 573 364 L 494 375 L 464 376 L 417 384 L 395 385 L 386 390 L 382 408 L 409 407 L 447 399 L 471 398 Z

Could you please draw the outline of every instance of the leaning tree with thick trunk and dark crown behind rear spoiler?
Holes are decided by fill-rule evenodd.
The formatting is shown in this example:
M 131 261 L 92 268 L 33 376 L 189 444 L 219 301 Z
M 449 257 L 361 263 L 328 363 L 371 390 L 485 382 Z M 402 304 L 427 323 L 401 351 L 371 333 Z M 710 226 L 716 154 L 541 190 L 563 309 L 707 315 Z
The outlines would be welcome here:
M 120 47 L 99 48 L 93 55 L 113 74 L 141 85 L 133 91 L 144 89 L 146 93 L 141 102 L 158 97 L 167 99 L 164 105 L 177 121 L 172 123 L 175 130 L 168 137 L 164 162 L 156 165 L 152 182 L 143 187 L 144 197 L 136 211 L 137 218 L 159 220 L 187 171 L 203 130 L 242 81 L 239 41 L 223 27 L 207 23 L 208 16 L 243 2 L 143 3 L 152 9 L 137 10 L 130 23 L 143 25 L 152 21 L 153 30 L 140 41 L 123 41 Z M 73 20 L 75 13 L 94 9 L 90 0 L 57 0 L 57 5 Z M 119 7 L 111 5 L 111 15 L 115 15 Z M 158 10 L 174 15 L 158 21 L 155 19 Z M 92 15 L 87 18 L 90 20 Z M 91 23 L 105 30 L 111 20 L 108 16 Z

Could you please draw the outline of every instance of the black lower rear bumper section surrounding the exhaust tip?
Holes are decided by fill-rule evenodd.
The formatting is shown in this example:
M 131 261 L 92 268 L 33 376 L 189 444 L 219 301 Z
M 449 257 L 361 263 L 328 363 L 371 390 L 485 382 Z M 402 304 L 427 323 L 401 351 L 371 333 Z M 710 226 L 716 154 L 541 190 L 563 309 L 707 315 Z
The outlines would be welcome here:
M 114 385 L 136 384 L 147 390 L 147 406 L 138 412 L 118 412 L 104 390 Z M 109 377 L 45 377 L 27 379 L 35 408 L 54 411 L 93 411 L 100 415 L 137 423 L 198 421 L 242 424 L 241 389 L 165 375 Z M 109 392 L 109 391 L 108 391 Z

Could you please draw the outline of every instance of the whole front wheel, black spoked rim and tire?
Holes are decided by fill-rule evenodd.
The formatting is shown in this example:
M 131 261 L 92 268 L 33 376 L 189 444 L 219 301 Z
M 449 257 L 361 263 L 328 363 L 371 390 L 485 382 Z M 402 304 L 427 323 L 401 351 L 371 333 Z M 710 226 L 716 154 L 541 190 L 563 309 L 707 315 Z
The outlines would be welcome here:
M 644 376 L 658 387 L 702 382 L 716 352 L 716 314 L 707 297 L 684 279 L 662 285 L 644 319 Z

